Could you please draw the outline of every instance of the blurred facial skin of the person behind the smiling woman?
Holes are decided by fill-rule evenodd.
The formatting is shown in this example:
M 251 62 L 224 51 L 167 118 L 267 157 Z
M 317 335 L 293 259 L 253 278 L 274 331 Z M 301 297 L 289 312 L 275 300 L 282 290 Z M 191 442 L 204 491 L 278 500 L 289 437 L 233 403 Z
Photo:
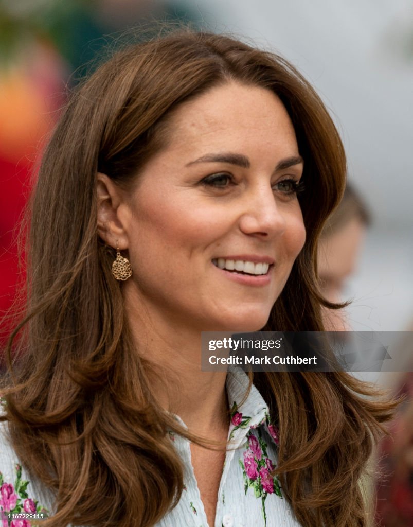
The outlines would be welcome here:
M 341 302 L 346 280 L 353 274 L 357 257 L 366 234 L 366 226 L 355 217 L 337 232 L 319 243 L 318 274 L 321 291 L 327 300 Z M 326 331 L 350 331 L 342 309 L 323 309 Z

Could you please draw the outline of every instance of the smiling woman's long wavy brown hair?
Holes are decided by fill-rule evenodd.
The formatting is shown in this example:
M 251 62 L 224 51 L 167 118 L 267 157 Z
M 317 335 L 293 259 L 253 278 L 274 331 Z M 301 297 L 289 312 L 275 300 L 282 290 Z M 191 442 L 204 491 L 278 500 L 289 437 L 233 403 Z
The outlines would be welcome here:
M 234 80 L 277 94 L 304 159 L 307 240 L 263 329 L 321 331 L 320 305 L 333 307 L 318 291 L 316 247 L 345 187 L 346 159 L 311 85 L 280 56 L 225 35 L 172 32 L 115 54 L 73 93 L 44 153 L 27 313 L 8 349 L 3 420 L 23 465 L 56 496 L 44 525 L 150 527 L 179 500 L 183 468 L 167 432 L 196 438 L 156 405 L 134 353 L 114 252 L 97 236 L 96 174 L 127 188 L 168 139 L 170 112 Z M 276 473 L 297 519 L 365 526 L 359 479 L 390 405 L 346 373 L 252 380 L 279 425 Z

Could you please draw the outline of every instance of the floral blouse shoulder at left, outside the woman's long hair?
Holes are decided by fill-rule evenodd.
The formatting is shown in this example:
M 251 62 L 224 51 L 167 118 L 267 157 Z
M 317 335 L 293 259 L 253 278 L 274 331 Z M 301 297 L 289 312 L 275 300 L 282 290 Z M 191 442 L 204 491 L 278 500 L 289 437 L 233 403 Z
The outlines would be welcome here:
M 46 518 L 51 510 L 51 498 L 50 491 L 20 463 L 9 438 L 8 422 L 0 422 L 0 514 L 21 515 L 14 516 L 20 519 L 33 518 L 33 514 Z

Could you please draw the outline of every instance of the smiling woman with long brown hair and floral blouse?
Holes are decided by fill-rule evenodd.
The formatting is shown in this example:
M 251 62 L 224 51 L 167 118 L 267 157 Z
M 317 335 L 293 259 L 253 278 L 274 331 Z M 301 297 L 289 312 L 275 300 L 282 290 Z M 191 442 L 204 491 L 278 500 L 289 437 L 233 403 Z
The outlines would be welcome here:
M 38 178 L 3 510 L 365 525 L 358 481 L 388 405 L 343 373 L 200 371 L 201 331 L 322 330 L 316 243 L 345 171 L 325 107 L 277 55 L 179 32 L 101 66 Z

